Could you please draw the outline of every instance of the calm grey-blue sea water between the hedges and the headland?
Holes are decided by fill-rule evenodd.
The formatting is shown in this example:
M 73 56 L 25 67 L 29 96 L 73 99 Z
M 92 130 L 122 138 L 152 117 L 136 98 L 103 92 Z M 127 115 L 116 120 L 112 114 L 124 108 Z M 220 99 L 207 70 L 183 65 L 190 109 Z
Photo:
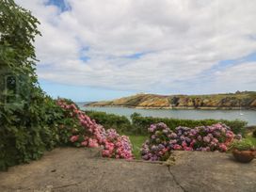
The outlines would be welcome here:
M 103 111 L 130 117 L 133 113 L 139 113 L 144 117 L 175 118 L 183 120 L 246 120 L 248 125 L 256 125 L 256 110 L 186 110 L 186 109 L 136 109 L 128 107 L 90 107 L 85 103 L 77 103 L 83 110 Z M 242 113 L 243 115 L 240 115 Z

